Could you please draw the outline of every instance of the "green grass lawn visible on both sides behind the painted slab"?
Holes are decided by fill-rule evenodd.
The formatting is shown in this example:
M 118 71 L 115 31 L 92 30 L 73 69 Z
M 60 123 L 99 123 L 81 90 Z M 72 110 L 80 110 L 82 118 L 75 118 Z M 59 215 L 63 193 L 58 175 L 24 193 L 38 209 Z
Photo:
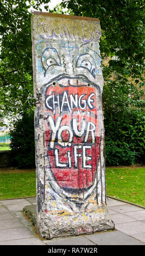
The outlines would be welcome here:
M 36 196 L 35 169 L 0 168 L 0 199 Z M 145 206 L 145 167 L 106 168 L 107 195 Z

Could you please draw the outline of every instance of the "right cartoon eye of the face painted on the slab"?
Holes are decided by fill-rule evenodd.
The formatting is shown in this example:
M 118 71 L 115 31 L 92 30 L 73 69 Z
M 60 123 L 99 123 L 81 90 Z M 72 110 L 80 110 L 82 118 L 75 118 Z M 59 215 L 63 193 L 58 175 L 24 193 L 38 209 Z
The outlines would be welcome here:
M 87 69 L 93 77 L 96 77 L 96 63 L 90 54 L 81 54 L 77 59 L 76 67 Z

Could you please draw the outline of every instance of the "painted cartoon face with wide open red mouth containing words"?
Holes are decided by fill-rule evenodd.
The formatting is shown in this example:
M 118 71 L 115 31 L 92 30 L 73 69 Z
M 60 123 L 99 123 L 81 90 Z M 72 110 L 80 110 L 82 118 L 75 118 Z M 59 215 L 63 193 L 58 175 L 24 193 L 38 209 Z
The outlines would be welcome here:
M 84 198 L 96 182 L 100 155 L 100 58 L 89 46 L 80 51 L 79 44 L 61 40 L 59 49 L 46 47 L 41 56 L 48 179 L 55 180 L 54 190 L 59 186 L 76 198 Z

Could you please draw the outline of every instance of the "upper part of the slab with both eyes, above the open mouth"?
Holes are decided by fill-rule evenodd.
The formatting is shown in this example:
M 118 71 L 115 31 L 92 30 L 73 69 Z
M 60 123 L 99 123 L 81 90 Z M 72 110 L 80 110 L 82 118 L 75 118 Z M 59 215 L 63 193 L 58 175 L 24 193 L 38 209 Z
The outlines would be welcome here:
M 98 19 L 34 12 L 31 18 L 33 42 L 34 97 L 44 94 L 60 77 L 96 84 L 103 90 L 100 68 L 101 36 Z

